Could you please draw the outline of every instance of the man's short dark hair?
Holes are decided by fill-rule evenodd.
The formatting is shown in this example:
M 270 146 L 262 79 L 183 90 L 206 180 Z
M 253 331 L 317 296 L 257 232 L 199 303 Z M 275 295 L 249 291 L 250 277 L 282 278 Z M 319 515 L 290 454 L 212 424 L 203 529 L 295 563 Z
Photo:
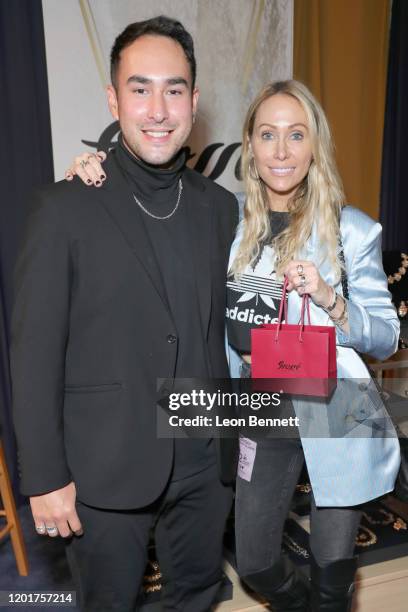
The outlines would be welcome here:
M 191 82 L 194 87 L 196 79 L 196 61 L 194 56 L 194 43 L 191 34 L 187 32 L 183 24 L 170 17 L 160 15 L 146 21 L 137 21 L 129 24 L 116 38 L 111 51 L 111 80 L 116 87 L 116 72 L 120 61 L 120 54 L 129 45 L 141 36 L 167 36 L 178 42 L 182 47 L 186 59 L 190 65 Z

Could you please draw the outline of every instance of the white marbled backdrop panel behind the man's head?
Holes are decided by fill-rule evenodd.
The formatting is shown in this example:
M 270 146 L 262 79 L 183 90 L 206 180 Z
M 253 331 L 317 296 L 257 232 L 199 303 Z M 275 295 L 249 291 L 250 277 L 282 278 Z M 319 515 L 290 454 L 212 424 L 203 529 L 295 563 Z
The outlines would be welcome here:
M 265 83 L 292 75 L 293 0 L 43 0 L 43 12 L 57 180 L 76 153 L 116 140 L 105 95 L 115 37 L 164 14 L 195 42 L 200 101 L 189 165 L 240 190 L 246 108 Z

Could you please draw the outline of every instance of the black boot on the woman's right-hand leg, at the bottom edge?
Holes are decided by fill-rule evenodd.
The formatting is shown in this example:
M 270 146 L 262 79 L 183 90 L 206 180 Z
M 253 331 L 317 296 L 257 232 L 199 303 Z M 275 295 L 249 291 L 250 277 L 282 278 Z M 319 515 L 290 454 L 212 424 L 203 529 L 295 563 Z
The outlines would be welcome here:
M 357 557 L 320 567 L 312 557 L 312 612 L 351 612 Z

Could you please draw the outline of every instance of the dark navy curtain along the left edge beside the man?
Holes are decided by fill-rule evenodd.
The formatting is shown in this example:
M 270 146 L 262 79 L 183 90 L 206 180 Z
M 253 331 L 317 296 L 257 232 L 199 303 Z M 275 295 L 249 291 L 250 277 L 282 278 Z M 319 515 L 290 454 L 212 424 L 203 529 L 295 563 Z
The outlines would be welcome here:
M 0 0 L 0 83 L 0 427 L 17 492 L 8 366 L 12 271 L 29 193 L 54 179 L 41 0 Z

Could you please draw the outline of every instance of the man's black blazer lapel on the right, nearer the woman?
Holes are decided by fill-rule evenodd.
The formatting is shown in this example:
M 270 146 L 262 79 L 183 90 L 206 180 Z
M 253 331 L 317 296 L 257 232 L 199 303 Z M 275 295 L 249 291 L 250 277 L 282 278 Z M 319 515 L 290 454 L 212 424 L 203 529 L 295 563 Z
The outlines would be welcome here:
M 205 186 L 188 168 L 183 174 L 187 201 L 192 255 L 196 272 L 197 296 L 204 335 L 207 335 L 211 309 L 211 221 L 212 208 Z

